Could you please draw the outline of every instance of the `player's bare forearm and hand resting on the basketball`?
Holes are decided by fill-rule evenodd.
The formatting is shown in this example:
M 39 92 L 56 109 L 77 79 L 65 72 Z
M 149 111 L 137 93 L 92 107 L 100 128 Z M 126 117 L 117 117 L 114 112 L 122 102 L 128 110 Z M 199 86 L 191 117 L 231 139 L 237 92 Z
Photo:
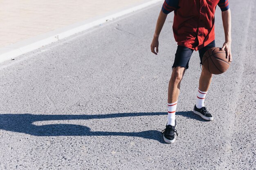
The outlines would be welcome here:
M 229 57 L 229 61 L 232 62 L 231 55 L 231 13 L 230 9 L 221 12 L 222 22 L 225 32 L 225 43 L 222 46 L 222 50 L 226 51 L 226 58 Z

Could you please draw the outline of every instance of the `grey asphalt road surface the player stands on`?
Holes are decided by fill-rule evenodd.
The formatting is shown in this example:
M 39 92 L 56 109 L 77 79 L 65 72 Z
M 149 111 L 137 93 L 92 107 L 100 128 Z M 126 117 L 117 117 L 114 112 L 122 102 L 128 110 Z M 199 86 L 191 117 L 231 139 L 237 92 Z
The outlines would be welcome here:
M 150 52 L 162 4 L 0 64 L 0 169 L 256 169 L 256 2 L 233 0 L 229 70 L 213 76 L 204 121 L 192 113 L 194 52 L 181 84 L 174 144 L 161 130 L 177 48 L 173 13 Z M 216 45 L 224 43 L 216 11 Z

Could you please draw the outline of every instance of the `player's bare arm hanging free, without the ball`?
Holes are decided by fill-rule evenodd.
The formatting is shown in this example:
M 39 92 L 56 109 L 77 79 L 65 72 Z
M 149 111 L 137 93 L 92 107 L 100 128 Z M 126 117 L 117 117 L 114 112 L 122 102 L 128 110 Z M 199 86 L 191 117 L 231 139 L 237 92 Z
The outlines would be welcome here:
M 154 33 L 154 37 L 151 43 L 151 52 L 154 53 L 155 55 L 157 55 L 158 53 L 158 38 L 159 38 L 159 34 L 164 26 L 164 22 L 166 20 L 167 14 L 163 13 L 163 11 L 161 10 L 157 19 L 157 25 L 155 27 L 155 33 Z M 156 49 L 156 50 L 155 50 Z

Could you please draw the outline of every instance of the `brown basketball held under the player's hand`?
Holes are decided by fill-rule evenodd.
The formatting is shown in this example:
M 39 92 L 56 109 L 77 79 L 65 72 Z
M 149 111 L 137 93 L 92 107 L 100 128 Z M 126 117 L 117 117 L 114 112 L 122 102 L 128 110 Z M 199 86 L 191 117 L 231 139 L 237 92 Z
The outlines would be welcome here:
M 225 50 L 213 47 L 204 53 L 202 65 L 212 74 L 221 74 L 227 71 L 230 62 Z

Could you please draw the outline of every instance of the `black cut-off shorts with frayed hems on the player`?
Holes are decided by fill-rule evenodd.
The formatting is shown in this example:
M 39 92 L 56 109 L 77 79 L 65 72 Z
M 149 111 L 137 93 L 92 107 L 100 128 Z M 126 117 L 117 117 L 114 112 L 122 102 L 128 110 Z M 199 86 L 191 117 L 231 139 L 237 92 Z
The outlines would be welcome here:
M 204 53 L 208 49 L 211 49 L 212 47 L 215 47 L 215 40 L 213 40 L 207 46 L 204 46 L 202 49 L 198 50 L 199 57 L 200 57 L 200 64 L 202 64 L 202 59 L 203 59 Z M 177 51 L 175 54 L 174 63 L 173 63 L 173 68 L 180 66 L 180 67 L 184 67 L 184 68 L 188 69 L 189 68 L 189 60 L 190 60 L 190 57 L 191 57 L 193 51 L 194 51 L 193 49 L 189 49 L 185 46 L 178 45 Z

